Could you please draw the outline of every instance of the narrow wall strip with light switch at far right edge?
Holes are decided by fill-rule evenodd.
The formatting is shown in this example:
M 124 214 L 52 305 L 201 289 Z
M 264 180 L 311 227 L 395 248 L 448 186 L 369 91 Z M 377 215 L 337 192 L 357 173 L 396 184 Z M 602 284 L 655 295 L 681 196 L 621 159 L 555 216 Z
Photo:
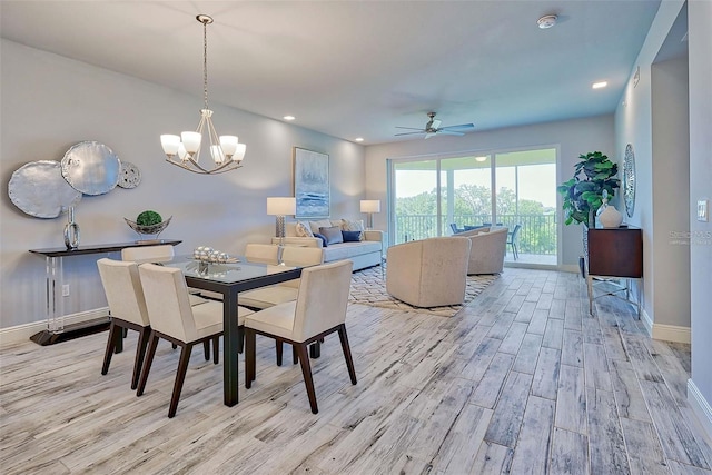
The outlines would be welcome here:
M 712 437 L 712 222 L 695 219 L 696 202 L 712 204 L 712 2 L 688 6 L 690 61 L 691 403 Z

